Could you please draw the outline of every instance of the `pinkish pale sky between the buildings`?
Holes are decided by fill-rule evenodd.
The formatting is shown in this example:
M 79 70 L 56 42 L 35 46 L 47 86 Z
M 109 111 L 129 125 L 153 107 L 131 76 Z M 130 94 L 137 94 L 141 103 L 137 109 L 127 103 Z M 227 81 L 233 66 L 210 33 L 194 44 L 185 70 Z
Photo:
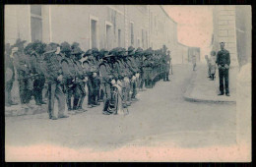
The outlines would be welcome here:
M 213 34 L 213 13 L 211 6 L 162 6 L 177 23 L 178 41 L 187 46 L 201 48 L 202 54 L 209 54 Z

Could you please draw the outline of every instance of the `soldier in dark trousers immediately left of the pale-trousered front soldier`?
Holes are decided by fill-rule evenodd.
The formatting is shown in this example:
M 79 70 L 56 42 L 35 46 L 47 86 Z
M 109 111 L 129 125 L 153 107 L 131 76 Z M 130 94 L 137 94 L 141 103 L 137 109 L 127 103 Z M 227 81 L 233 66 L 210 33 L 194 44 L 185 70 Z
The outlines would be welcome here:
M 46 45 L 38 40 L 32 43 L 31 64 L 32 74 L 35 76 L 33 80 L 33 96 L 36 105 L 46 104 L 42 100 L 42 89 L 44 87 L 45 78 L 43 70 L 45 64 L 43 62 L 42 54 Z

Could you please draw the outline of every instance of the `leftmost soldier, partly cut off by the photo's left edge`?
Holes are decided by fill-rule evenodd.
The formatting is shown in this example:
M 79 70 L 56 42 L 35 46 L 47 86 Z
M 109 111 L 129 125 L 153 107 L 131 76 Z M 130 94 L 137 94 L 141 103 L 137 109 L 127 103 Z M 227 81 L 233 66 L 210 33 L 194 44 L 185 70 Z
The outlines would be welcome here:
M 5 45 L 5 105 L 17 105 L 18 103 L 12 100 L 12 88 L 15 81 L 15 70 L 13 62 L 13 51 L 10 43 Z

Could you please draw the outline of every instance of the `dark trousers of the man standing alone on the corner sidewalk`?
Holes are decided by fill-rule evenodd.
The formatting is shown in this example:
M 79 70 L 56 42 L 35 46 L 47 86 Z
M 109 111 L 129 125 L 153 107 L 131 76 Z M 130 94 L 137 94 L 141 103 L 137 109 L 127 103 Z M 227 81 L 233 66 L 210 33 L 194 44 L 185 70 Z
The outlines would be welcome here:
M 219 69 L 219 77 L 220 77 L 220 91 L 221 93 L 229 93 L 228 89 L 228 69 Z

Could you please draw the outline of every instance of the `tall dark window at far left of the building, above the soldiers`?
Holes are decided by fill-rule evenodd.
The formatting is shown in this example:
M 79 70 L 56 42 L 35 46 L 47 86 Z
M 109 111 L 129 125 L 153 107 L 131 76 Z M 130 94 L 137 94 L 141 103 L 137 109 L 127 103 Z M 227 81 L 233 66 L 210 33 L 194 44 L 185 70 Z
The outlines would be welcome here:
M 41 5 L 31 5 L 32 42 L 42 40 Z

